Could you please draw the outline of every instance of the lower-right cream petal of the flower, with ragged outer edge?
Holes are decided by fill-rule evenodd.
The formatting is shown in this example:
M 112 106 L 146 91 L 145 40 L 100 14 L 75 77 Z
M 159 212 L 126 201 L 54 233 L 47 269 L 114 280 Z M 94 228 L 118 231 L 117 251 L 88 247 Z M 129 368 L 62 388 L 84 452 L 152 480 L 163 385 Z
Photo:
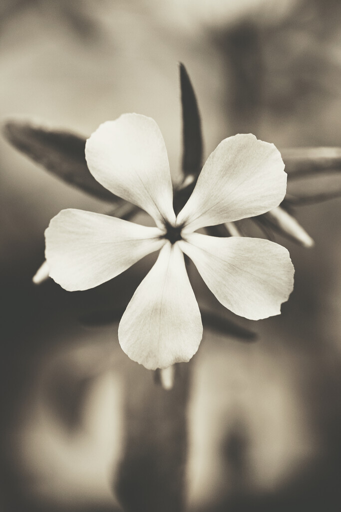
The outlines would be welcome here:
M 293 288 L 289 253 L 258 238 L 218 238 L 191 233 L 179 246 L 223 306 L 259 320 L 281 312 Z

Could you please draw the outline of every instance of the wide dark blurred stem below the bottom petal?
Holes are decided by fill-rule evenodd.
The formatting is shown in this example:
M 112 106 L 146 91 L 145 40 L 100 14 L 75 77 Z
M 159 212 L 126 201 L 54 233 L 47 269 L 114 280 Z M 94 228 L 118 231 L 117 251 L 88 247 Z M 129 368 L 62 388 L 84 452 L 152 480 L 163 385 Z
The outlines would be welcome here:
M 174 386 L 165 390 L 150 371 L 128 366 L 125 452 L 115 485 L 125 512 L 184 510 L 191 364 L 174 368 Z

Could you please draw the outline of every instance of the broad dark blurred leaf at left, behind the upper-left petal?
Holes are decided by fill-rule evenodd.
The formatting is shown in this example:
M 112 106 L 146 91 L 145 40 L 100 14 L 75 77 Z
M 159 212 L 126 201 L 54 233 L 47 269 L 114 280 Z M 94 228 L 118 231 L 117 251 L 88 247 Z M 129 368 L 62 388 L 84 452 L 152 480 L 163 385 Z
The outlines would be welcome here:
M 58 178 L 99 199 L 122 202 L 90 174 L 85 161 L 85 138 L 15 120 L 3 126 L 3 133 L 17 150 Z

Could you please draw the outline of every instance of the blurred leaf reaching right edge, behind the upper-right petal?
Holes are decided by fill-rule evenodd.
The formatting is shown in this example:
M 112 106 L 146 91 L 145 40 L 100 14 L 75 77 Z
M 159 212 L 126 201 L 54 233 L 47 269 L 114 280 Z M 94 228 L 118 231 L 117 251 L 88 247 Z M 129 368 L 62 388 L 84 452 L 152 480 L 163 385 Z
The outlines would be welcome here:
M 289 179 L 341 171 L 341 147 L 292 147 L 281 154 Z

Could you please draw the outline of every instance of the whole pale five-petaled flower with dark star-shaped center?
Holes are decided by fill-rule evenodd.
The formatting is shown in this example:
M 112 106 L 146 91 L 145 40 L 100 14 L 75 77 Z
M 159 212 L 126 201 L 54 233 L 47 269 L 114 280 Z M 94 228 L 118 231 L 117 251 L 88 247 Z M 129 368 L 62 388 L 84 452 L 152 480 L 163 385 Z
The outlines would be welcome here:
M 220 142 L 177 217 L 167 151 L 153 119 L 124 114 L 101 124 L 87 140 L 85 156 L 96 180 L 143 208 L 156 227 L 62 210 L 46 230 L 50 276 L 65 290 L 86 290 L 161 249 L 119 325 L 121 347 L 131 359 L 149 369 L 167 368 L 197 351 L 202 323 L 184 253 L 226 308 L 254 320 L 280 313 L 293 287 L 293 266 L 284 247 L 195 232 L 280 204 L 286 173 L 273 144 L 251 134 Z

